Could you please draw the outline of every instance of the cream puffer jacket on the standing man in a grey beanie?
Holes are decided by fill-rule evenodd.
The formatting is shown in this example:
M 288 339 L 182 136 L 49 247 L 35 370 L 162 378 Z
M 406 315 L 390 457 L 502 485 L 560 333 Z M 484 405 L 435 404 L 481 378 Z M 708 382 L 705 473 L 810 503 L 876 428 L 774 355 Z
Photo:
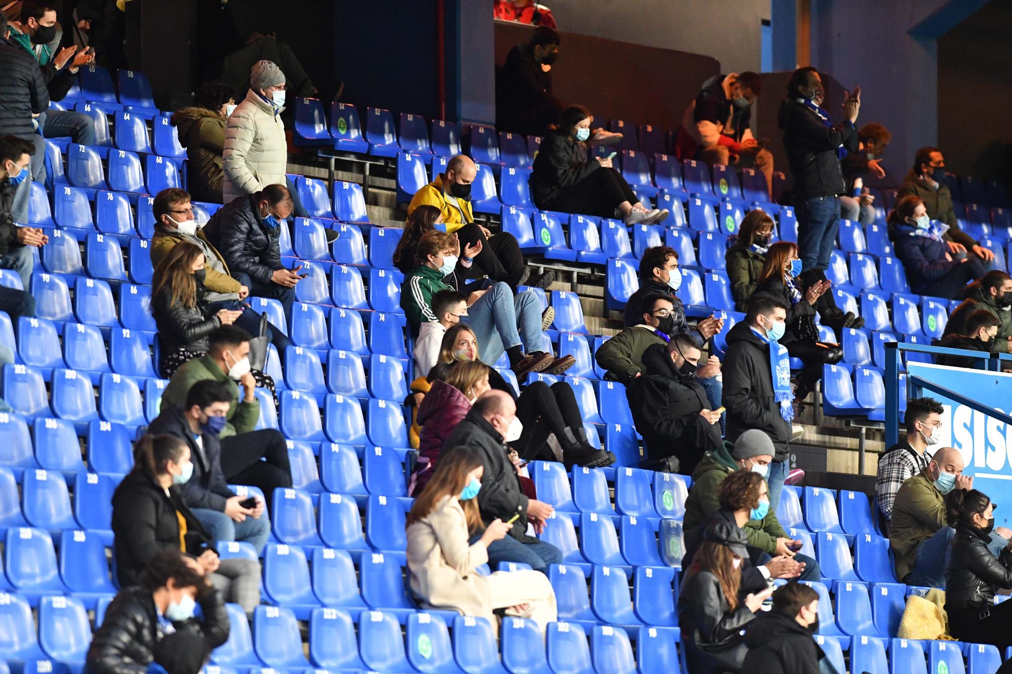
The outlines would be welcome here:
M 281 110 L 250 89 L 229 116 L 222 159 L 222 198 L 258 192 L 267 185 L 283 185 L 288 166 Z

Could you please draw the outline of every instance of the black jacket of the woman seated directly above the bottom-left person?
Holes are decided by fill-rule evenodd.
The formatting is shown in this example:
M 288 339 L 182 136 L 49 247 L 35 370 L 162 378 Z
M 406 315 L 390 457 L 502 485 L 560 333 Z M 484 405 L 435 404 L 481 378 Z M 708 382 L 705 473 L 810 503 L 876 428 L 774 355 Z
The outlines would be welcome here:
M 180 551 L 179 519 L 186 521 L 182 552 L 199 557 L 213 550 L 210 536 L 193 516 L 178 486 L 165 490 L 141 471 L 130 473 L 112 493 L 112 533 L 120 587 L 138 585 L 158 553 Z

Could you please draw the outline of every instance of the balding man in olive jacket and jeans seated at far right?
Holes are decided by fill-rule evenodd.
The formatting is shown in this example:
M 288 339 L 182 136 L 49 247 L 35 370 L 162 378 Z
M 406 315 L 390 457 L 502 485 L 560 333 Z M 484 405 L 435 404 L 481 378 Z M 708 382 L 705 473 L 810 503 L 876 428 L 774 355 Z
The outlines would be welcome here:
M 953 489 L 974 488 L 974 478 L 962 475 L 962 468 L 959 450 L 942 447 L 896 494 L 889 541 L 896 558 L 896 577 L 908 585 L 945 589 L 945 560 L 955 535 L 946 522 L 945 495 Z M 1010 536 L 1009 529 L 996 528 L 988 549 L 998 557 Z

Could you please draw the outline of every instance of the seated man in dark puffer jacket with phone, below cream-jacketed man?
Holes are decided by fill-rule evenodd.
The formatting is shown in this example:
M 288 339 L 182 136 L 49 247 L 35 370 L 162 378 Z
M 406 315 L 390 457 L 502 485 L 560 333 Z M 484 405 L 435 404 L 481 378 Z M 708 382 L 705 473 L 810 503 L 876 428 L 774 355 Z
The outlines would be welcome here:
M 291 215 L 291 193 L 284 185 L 267 185 L 249 196 L 239 196 L 219 208 L 203 228 L 243 285 L 255 298 L 278 300 L 291 321 L 296 283 L 302 265 L 285 269 L 281 263 L 281 228 Z

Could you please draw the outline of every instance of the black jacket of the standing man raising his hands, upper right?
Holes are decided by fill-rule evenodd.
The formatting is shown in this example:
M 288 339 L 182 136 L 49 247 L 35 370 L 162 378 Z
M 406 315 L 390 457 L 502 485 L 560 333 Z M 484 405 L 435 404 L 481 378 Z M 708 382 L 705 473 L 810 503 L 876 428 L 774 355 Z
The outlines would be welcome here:
M 835 127 L 822 119 L 800 99 L 785 100 L 777 114 L 783 146 L 794 179 L 794 203 L 844 192 L 843 172 L 836 156 L 841 145 L 857 152 L 857 130 L 849 119 Z

